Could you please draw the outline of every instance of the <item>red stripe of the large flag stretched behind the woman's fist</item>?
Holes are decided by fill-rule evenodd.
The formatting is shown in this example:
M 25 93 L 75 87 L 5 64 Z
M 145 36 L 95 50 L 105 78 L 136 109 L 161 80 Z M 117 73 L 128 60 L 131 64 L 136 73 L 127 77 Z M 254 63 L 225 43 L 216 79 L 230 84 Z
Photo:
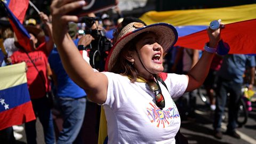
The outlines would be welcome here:
M 221 37 L 230 46 L 229 53 L 253 54 L 256 53 L 256 19 L 229 23 L 221 30 Z M 204 44 L 209 41 L 207 31 L 179 37 L 175 46 L 203 50 Z

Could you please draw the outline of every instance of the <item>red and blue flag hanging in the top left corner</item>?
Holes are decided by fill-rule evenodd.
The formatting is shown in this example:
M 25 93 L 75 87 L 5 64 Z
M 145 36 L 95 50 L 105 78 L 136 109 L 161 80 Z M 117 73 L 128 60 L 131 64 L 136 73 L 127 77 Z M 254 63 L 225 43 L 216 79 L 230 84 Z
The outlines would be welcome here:
M 28 9 L 28 0 L 9 0 L 4 3 L 0 0 L 0 8 L 7 14 L 12 25 L 15 35 L 17 36 L 19 44 L 26 50 L 32 50 L 30 45 L 30 35 L 23 27 L 26 11 Z

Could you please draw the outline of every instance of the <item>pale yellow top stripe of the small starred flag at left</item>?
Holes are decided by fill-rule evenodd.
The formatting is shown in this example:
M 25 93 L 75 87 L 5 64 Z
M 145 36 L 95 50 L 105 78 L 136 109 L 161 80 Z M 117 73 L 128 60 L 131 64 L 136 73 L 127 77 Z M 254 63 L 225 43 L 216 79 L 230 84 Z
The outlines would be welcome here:
M 26 63 L 0 67 L 0 90 L 27 83 Z

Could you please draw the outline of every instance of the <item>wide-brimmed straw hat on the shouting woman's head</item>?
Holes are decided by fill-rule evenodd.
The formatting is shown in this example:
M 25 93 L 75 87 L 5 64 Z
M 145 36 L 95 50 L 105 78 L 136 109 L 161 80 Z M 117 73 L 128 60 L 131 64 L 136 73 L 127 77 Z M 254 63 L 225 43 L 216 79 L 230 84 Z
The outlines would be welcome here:
M 117 42 L 112 47 L 106 60 L 105 69 L 113 68 L 119 53 L 126 43 L 131 41 L 135 36 L 143 32 L 153 32 L 158 37 L 158 43 L 163 47 L 164 52 L 170 49 L 178 39 L 177 30 L 168 23 L 155 23 L 153 25 L 144 26 L 140 22 L 132 22 L 125 26 L 117 37 Z

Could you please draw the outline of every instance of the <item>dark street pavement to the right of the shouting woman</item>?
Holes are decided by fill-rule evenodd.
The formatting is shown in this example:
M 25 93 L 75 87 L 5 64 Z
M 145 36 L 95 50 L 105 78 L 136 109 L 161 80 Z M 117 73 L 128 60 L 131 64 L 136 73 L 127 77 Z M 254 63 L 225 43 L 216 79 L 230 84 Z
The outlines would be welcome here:
M 241 135 L 241 139 L 230 137 L 223 134 L 221 140 L 213 136 L 213 119 L 214 111 L 211 111 L 209 106 L 205 105 L 202 100 L 197 97 L 196 117 L 188 118 L 186 121 L 181 122 L 180 131 L 185 137 L 188 138 L 189 143 L 230 143 L 230 144 L 248 144 L 256 143 L 256 100 L 252 102 L 253 110 L 249 112 L 249 119 L 247 123 L 237 128 L 237 133 Z M 226 111 L 227 113 L 227 111 Z M 227 122 L 222 122 L 222 132 L 226 131 Z

